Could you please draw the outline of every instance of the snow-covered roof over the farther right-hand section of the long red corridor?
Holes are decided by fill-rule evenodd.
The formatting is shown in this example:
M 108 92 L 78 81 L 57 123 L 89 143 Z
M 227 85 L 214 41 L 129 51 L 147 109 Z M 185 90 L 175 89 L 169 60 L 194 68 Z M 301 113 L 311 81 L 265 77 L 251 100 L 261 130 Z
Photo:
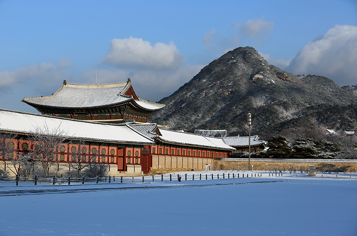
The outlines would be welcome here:
M 185 146 L 196 146 L 202 148 L 214 148 L 222 150 L 235 150 L 225 143 L 221 138 L 208 137 L 193 133 L 184 133 L 178 131 L 172 131 L 167 129 L 162 129 L 159 127 L 162 136 L 157 136 L 156 138 L 164 143 L 178 144 Z

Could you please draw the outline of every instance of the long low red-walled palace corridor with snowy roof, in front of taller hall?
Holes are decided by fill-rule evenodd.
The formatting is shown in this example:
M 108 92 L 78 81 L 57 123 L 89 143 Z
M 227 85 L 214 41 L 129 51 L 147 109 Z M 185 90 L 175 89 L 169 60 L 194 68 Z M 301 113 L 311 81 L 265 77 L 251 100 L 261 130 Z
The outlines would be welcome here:
M 96 123 L 5 109 L 0 109 L 0 121 L 0 141 L 10 139 L 5 140 L 5 146 L 11 147 L 7 153 L 0 150 L 0 168 L 12 169 L 10 174 L 22 168 L 21 163 L 11 166 L 13 157 L 38 149 L 34 136 L 44 137 L 45 143 L 46 137 L 60 140 L 58 149 L 44 157 L 54 163 L 50 175 L 57 176 L 77 161 L 75 155 L 80 155 L 83 163 L 109 165 L 112 176 L 132 176 L 203 171 L 206 164 L 213 164 L 214 158 L 228 157 L 235 150 L 221 138 L 162 129 L 157 124 Z M 50 141 L 47 143 L 45 146 L 50 146 Z M 36 161 L 37 157 L 29 158 Z

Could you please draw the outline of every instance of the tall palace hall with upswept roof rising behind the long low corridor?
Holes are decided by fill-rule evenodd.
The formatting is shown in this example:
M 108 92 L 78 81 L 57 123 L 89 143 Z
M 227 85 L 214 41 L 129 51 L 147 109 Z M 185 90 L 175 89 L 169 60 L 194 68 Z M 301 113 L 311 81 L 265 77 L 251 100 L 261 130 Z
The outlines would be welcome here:
M 105 123 L 125 120 L 146 123 L 147 117 L 165 104 L 142 100 L 133 89 L 130 79 L 112 84 L 69 84 L 47 97 L 24 98 L 22 102 L 44 115 Z

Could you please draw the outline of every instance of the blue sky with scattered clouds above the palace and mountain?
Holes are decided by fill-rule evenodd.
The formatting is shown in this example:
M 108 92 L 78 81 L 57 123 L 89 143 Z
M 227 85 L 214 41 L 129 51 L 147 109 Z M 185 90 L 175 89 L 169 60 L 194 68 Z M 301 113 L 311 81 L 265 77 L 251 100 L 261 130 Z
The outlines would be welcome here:
M 238 46 L 294 74 L 357 84 L 357 1 L 1 1 L 0 108 L 68 83 L 159 101 Z

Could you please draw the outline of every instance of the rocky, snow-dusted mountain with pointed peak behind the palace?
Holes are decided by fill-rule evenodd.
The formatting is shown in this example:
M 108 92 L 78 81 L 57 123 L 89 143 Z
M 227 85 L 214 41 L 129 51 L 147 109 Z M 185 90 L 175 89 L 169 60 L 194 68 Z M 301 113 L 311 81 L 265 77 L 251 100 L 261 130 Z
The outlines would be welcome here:
M 249 112 L 254 131 L 270 132 L 309 106 L 357 104 L 357 97 L 325 77 L 295 76 L 269 65 L 246 47 L 212 61 L 160 103 L 167 108 L 153 114 L 152 122 L 189 132 L 227 129 L 242 135 Z

